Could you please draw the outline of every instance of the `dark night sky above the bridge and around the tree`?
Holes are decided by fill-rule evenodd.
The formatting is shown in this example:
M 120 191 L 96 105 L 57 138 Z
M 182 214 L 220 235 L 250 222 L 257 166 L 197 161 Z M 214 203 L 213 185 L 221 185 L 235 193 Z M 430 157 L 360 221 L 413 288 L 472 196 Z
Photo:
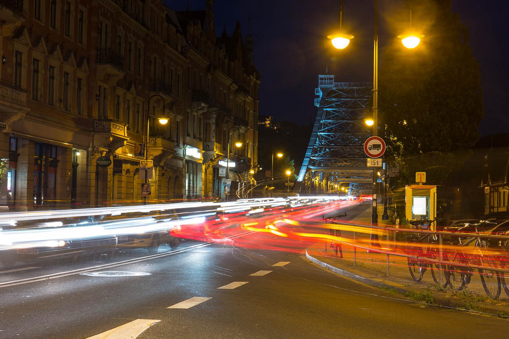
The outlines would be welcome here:
M 183 0 L 165 0 L 165 4 L 186 9 Z M 239 21 L 245 37 L 251 16 L 255 64 L 262 77 L 261 115 L 299 124 L 314 120 L 314 88 L 326 67 L 336 75 L 336 82 L 373 80 L 373 1 L 345 0 L 344 24 L 355 38 L 341 52 L 332 50 L 326 39 L 337 22 L 339 4 L 338 0 L 214 0 L 218 36 L 223 25 L 231 35 Z M 190 0 L 189 7 L 203 10 L 205 0 Z M 453 12 L 468 25 L 470 46 L 480 66 L 485 105 L 482 135 L 509 132 L 508 9 L 505 0 L 453 0 Z M 395 13 L 402 10 L 404 0 L 379 0 L 380 52 L 394 39 L 391 25 Z

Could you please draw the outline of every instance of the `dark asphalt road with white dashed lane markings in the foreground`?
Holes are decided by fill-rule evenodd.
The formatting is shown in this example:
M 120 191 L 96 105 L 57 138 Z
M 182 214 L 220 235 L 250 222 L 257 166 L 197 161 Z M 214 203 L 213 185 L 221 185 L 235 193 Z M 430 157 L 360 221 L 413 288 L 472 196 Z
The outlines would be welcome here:
M 241 239 L 0 271 L 0 338 L 99 339 L 124 324 L 110 338 L 133 338 L 150 323 L 138 339 L 505 338 L 509 332 L 507 320 L 399 299 L 300 254 L 242 248 Z M 26 267 L 38 266 L 15 269 Z M 79 274 L 93 270 L 150 275 Z

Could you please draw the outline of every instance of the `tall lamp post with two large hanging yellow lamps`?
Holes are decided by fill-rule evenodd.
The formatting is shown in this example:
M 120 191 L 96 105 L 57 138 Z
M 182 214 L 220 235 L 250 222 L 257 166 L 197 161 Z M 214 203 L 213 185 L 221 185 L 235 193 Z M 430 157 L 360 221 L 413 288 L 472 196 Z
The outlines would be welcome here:
M 373 126 L 373 136 L 377 136 L 378 132 L 378 0 L 375 1 L 375 34 L 373 36 L 373 119 L 365 120 L 366 125 Z M 342 32 L 342 21 L 343 21 L 343 0 L 341 0 L 340 14 L 338 16 L 340 23 L 340 31 L 336 34 L 329 35 L 327 38 L 332 40 L 332 45 L 337 49 L 343 49 L 348 46 L 350 39 L 353 36 Z M 398 36 L 402 39 L 402 43 L 406 48 L 415 48 L 420 42 L 420 38 L 424 37 L 421 34 L 417 34 L 412 31 L 412 8 L 410 7 L 410 30 L 408 33 Z M 378 212 L 377 212 L 377 199 L 376 199 L 376 183 L 378 181 L 376 167 L 373 167 L 373 206 L 371 212 L 371 225 L 376 226 L 378 224 Z M 371 234 L 371 244 L 378 244 L 378 235 Z

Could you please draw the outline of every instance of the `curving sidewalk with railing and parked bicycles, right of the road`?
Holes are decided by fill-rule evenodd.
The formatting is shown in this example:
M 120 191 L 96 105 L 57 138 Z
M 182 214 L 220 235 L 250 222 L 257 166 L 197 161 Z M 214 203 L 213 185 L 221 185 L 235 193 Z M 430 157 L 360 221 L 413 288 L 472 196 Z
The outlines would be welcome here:
M 390 225 L 388 221 L 380 220 L 381 215 L 379 208 L 379 226 Z M 367 208 L 358 217 L 344 222 L 370 224 L 371 207 Z M 342 235 L 349 239 L 354 238 L 353 232 L 342 231 Z M 365 244 L 369 242 L 369 236 L 367 233 L 360 233 L 360 235 L 357 233 L 356 243 Z M 385 237 L 380 239 L 382 247 L 385 241 Z M 498 300 L 489 298 L 477 271 L 474 272 L 470 284 L 464 290 L 454 292 L 450 287 L 439 288 L 432 279 L 430 269 L 427 269 L 423 274 L 420 282 L 414 282 L 410 276 L 406 257 L 389 255 L 387 258 L 384 253 L 367 253 L 366 250 L 360 248 L 354 250 L 353 245 L 342 244 L 343 258 L 340 258 L 341 254 L 338 253 L 335 256 L 330 245 L 330 242 L 327 242 L 326 245 L 320 242 L 311 246 L 306 251 L 307 259 L 354 280 L 385 290 L 392 290 L 413 299 L 418 296 L 417 299 L 421 299 L 419 301 L 431 302 L 433 300 L 433 303 L 436 304 L 459 307 L 479 313 L 509 315 L 509 297 L 505 294 L 503 286 L 501 286 Z

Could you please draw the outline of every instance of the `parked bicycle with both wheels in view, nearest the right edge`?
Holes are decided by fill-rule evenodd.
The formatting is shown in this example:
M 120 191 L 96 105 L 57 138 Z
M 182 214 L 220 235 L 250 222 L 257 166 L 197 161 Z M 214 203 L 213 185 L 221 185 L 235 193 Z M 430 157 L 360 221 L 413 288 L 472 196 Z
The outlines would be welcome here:
M 468 231 L 468 229 L 474 229 L 475 234 L 479 235 L 479 227 L 483 229 L 486 227 L 496 226 L 495 223 L 489 221 L 479 221 L 477 224 L 464 224 L 464 227 L 460 229 L 462 232 Z M 496 270 L 489 269 L 490 267 L 497 268 L 497 263 L 493 256 L 487 253 L 489 241 L 483 240 L 479 236 L 472 237 L 458 237 L 458 244 L 460 246 L 473 246 L 475 247 L 472 255 L 465 254 L 463 249 L 460 251 L 446 251 L 444 253 L 444 261 L 450 262 L 445 265 L 444 275 L 447 281 L 447 285 L 454 290 L 461 291 L 471 281 L 472 275 L 474 274 L 474 268 L 466 267 L 464 265 L 476 265 L 488 268 L 477 268 L 483 288 L 489 296 L 494 299 L 498 299 L 501 292 L 501 274 Z M 455 264 L 456 263 L 456 264 Z M 462 265 L 457 265 L 462 264 Z

